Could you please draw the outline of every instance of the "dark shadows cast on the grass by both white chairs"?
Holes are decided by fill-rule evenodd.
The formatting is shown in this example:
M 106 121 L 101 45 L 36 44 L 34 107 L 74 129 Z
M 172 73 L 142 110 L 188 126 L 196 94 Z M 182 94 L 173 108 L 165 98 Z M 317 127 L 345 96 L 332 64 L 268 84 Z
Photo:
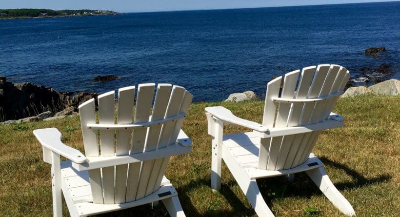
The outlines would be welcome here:
M 343 170 L 349 176 L 352 177 L 351 181 L 346 182 L 336 182 L 334 185 L 336 188 L 341 191 L 345 189 L 356 189 L 363 187 L 365 185 L 375 184 L 384 182 L 386 180 L 390 180 L 392 177 L 383 174 L 374 178 L 365 178 L 357 171 L 347 167 L 344 164 L 334 162 L 328 158 L 321 157 L 320 160 L 329 166 L 334 168 Z M 329 176 L 329 173 L 328 173 Z M 297 173 L 295 175 L 295 181 L 289 182 L 285 178 L 285 176 L 280 177 L 272 177 L 272 178 L 260 178 L 257 180 L 258 186 L 260 188 L 260 192 L 265 202 L 270 208 L 273 208 L 273 201 L 280 200 L 286 197 L 305 197 L 310 198 L 315 195 L 321 195 L 322 193 L 318 189 L 318 187 L 314 184 L 314 182 L 307 176 L 305 172 Z M 219 206 L 219 204 L 209 204 L 209 208 L 205 208 L 206 211 L 202 213 L 199 212 L 199 208 L 196 208 L 193 205 L 193 201 L 187 194 L 193 189 L 199 188 L 209 188 L 211 192 L 211 180 L 209 178 L 200 178 L 190 181 L 188 184 L 180 186 L 177 188 L 178 197 L 180 203 L 182 205 L 183 211 L 187 216 L 193 217 L 209 217 L 209 216 L 218 216 L 218 217 L 231 217 L 231 216 L 254 216 L 254 210 L 243 204 L 238 195 L 234 193 L 231 189 L 232 186 L 236 185 L 235 180 L 231 180 L 228 183 L 223 182 L 221 185 L 220 194 L 224 199 L 230 204 L 232 207 L 231 211 L 227 211 Z M 212 194 L 212 193 L 207 193 Z M 219 194 L 219 193 L 216 193 Z M 215 195 L 215 197 L 219 197 Z M 206 203 L 207 201 L 204 201 Z M 274 212 L 274 211 L 273 211 Z M 154 207 L 153 209 L 149 205 L 143 205 L 140 207 L 131 208 L 128 210 L 120 211 L 112 213 L 111 216 L 132 216 L 132 215 L 140 214 L 141 216 L 169 216 L 165 207 L 160 203 L 159 206 Z M 110 216 L 107 215 L 99 215 L 99 216 Z

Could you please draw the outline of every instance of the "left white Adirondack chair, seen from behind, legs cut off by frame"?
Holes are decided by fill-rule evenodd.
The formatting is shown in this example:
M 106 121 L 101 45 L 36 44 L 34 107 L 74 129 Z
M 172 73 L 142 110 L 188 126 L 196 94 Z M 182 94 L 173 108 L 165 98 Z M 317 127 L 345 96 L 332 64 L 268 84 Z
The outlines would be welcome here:
M 85 155 L 63 144 L 56 128 L 35 130 L 43 159 L 51 164 L 54 216 L 62 216 L 61 190 L 71 216 L 89 216 L 161 200 L 168 213 L 184 216 L 178 194 L 164 176 L 171 156 L 191 152 L 180 129 L 193 96 L 180 86 L 154 83 L 119 89 L 115 123 L 114 91 L 79 106 Z M 151 116 L 150 116 L 151 112 Z M 98 135 L 100 135 L 100 152 Z M 60 162 L 60 156 L 70 160 Z

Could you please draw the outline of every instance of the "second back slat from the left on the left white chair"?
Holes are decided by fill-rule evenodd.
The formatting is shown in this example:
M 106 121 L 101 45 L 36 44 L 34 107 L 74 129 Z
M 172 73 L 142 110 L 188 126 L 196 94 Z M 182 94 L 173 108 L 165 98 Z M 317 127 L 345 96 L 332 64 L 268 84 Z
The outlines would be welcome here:
M 99 123 L 114 124 L 114 91 L 98 96 Z M 114 156 L 114 131 L 100 130 L 100 152 L 101 156 Z M 115 168 L 104 167 L 101 169 L 103 197 L 105 204 L 115 203 Z

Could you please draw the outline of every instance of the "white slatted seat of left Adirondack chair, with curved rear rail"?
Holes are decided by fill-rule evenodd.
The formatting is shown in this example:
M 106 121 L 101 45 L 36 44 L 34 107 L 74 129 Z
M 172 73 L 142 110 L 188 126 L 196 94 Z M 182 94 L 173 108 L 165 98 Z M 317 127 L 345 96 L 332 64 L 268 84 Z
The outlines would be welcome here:
M 72 167 L 71 161 L 62 161 L 61 178 L 62 192 L 66 197 L 67 205 L 75 206 L 79 216 L 88 216 L 130 208 L 178 195 L 170 181 L 164 176 L 161 181 L 160 189 L 147 197 L 121 204 L 98 204 L 93 203 L 88 171 L 77 171 Z

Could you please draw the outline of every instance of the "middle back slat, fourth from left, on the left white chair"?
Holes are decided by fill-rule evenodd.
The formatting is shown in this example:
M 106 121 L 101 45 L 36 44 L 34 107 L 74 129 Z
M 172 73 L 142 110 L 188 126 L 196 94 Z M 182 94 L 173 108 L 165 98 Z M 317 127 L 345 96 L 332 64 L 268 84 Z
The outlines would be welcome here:
M 155 83 L 139 84 L 134 123 L 149 120 L 155 87 Z M 133 130 L 131 154 L 143 152 L 146 134 L 147 128 Z M 126 184 L 126 202 L 136 199 L 139 186 L 140 166 L 141 162 L 129 164 L 128 180 Z

